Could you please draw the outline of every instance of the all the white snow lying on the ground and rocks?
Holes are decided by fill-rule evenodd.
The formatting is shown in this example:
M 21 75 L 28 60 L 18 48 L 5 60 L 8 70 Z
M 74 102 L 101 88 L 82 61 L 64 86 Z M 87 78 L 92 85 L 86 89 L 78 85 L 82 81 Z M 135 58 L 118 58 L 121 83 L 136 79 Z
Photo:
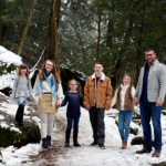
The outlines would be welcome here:
M 14 65 L 20 65 L 22 63 L 21 58 L 13 54 L 12 52 L 0 46 L 0 66 L 3 63 L 7 63 L 9 66 L 11 63 Z M 17 74 L 17 71 L 13 71 L 8 74 L 0 75 L 0 90 L 12 86 L 13 79 Z M 0 93 L 3 95 L 2 93 Z M 25 107 L 24 120 L 30 120 L 28 116 L 28 108 Z M 12 116 L 15 115 L 17 105 L 10 105 L 3 102 L 0 105 L 0 111 L 6 112 Z M 65 117 L 66 107 L 60 108 L 56 116 Z M 110 117 L 110 114 L 113 114 L 114 117 Z M 138 110 L 137 110 L 138 113 Z M 126 149 L 121 149 L 122 141 L 120 138 L 118 128 L 115 124 L 117 120 L 117 111 L 111 110 L 105 112 L 105 149 L 100 149 L 98 146 L 90 146 L 92 143 L 92 127 L 90 124 L 89 112 L 82 108 L 82 115 L 80 118 L 80 133 L 79 142 L 82 144 L 81 147 L 71 146 L 65 155 L 61 155 L 58 160 L 54 162 L 54 165 L 60 166 L 147 166 L 152 164 L 157 164 L 160 162 L 166 162 L 166 116 L 162 115 L 162 126 L 163 126 L 163 151 L 159 158 L 152 158 L 152 154 L 137 155 L 135 152 L 142 149 L 142 145 L 131 146 L 131 141 L 135 135 L 129 134 L 128 145 Z M 8 124 L 2 122 L 4 120 L 3 115 L 0 115 L 0 125 L 2 127 L 9 127 Z M 33 117 L 40 126 L 40 118 L 37 116 Z M 12 124 L 10 124 L 12 125 Z M 131 126 L 133 128 L 138 128 L 137 136 L 143 136 L 143 129 L 138 125 L 132 122 Z M 59 127 L 59 126 L 58 126 Z M 11 127 L 11 129 L 17 131 L 18 128 Z M 20 132 L 20 131 L 17 131 Z M 65 131 L 64 131 L 65 132 Z M 53 129 L 53 135 L 56 135 L 56 128 Z M 59 138 L 60 142 L 64 141 L 64 137 Z M 72 139 L 71 139 L 72 145 Z M 41 144 L 28 144 L 21 148 L 14 148 L 9 146 L 7 148 L 0 147 L 0 166 L 21 166 L 23 162 L 27 162 L 27 166 L 33 165 L 30 160 L 30 155 L 38 155 L 42 151 Z M 48 159 L 49 163 L 49 159 Z

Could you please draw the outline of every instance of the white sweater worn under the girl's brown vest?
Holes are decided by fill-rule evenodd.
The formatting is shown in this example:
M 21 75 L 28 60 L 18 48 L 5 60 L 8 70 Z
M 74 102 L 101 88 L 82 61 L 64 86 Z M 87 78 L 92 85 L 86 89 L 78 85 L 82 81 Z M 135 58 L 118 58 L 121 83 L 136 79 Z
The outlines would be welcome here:
M 125 100 L 125 93 L 126 93 L 126 90 L 128 89 L 129 84 L 128 85 L 123 85 L 121 84 L 121 111 L 124 111 L 124 100 Z M 134 86 L 132 87 L 132 96 L 134 97 L 134 94 L 135 94 L 135 89 Z M 113 101 L 112 101 L 112 105 L 111 107 L 113 107 L 115 104 L 116 104 L 116 101 L 117 100 L 117 90 L 115 92 L 115 95 L 113 97 Z

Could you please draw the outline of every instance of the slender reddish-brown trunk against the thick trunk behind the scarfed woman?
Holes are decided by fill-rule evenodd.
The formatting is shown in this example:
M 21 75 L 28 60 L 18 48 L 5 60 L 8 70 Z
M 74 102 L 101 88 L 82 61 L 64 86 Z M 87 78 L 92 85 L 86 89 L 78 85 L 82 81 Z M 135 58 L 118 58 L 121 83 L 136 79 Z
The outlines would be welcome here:
M 55 15 L 55 7 L 60 13 L 60 3 L 56 3 L 58 0 L 54 0 L 53 4 L 53 17 L 54 17 L 54 30 L 55 30 L 55 46 L 56 46 L 56 62 L 58 62 L 58 73 L 61 79 L 61 59 L 60 59 L 60 46 L 59 46 L 59 35 L 58 35 L 58 15 Z M 55 6 L 56 4 L 56 6 Z M 59 14 L 60 15 L 60 14 Z

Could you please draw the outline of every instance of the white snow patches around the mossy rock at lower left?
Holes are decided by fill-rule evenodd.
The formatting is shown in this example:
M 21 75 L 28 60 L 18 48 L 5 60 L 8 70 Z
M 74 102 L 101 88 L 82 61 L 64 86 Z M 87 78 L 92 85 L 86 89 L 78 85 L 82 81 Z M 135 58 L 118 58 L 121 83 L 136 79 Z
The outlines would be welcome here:
M 0 93 L 1 95 L 4 95 L 2 93 Z M 17 113 L 17 108 L 18 105 L 12 105 L 12 104 L 8 104 L 7 102 L 1 103 L 0 102 L 0 111 L 4 112 L 11 116 L 14 116 Z M 23 120 L 30 121 L 30 116 L 28 115 L 30 112 L 28 111 L 30 107 L 25 106 L 24 108 L 24 116 Z M 31 108 L 32 110 L 32 108 Z M 33 111 L 33 110 L 32 110 Z M 33 111 L 34 112 L 34 111 Z M 14 127 L 14 124 L 7 124 L 6 121 L 6 116 L 0 115 L 0 126 L 8 128 L 10 127 L 11 131 L 15 131 L 18 133 L 21 133 L 21 131 L 17 127 Z M 40 126 L 40 118 L 34 116 L 33 121 L 37 122 L 37 124 L 39 124 Z M 12 127 L 11 127 L 12 126 Z M 15 148 L 13 146 L 9 146 L 7 148 L 0 147 L 0 166 L 20 166 L 22 162 L 24 160 L 29 160 L 29 155 L 38 155 L 39 152 L 41 151 L 41 145 L 40 144 L 28 144 L 27 146 L 23 146 L 21 148 Z M 1 163 L 2 160 L 2 163 Z

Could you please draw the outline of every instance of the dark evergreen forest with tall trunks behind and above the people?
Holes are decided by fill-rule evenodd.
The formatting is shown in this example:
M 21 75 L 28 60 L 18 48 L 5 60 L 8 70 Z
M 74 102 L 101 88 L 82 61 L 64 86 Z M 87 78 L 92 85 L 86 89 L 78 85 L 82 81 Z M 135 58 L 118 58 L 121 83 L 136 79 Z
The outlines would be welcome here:
M 136 86 L 154 49 L 166 64 L 166 1 L 164 0 L 0 0 L 0 45 L 20 55 L 30 69 L 43 61 L 93 73 L 104 65 L 115 90 L 124 73 Z

